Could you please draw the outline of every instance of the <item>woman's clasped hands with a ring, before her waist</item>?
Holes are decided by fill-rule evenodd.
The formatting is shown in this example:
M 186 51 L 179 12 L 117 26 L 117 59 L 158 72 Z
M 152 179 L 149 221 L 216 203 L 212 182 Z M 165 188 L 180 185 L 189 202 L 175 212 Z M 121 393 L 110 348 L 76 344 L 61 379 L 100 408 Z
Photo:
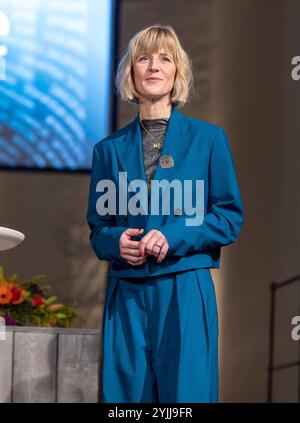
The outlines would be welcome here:
M 169 244 L 166 237 L 157 229 L 152 229 L 139 241 L 131 238 L 141 235 L 144 229 L 126 229 L 120 237 L 120 255 L 132 266 L 139 266 L 147 261 L 147 256 L 157 257 L 157 263 L 161 263 L 168 250 Z

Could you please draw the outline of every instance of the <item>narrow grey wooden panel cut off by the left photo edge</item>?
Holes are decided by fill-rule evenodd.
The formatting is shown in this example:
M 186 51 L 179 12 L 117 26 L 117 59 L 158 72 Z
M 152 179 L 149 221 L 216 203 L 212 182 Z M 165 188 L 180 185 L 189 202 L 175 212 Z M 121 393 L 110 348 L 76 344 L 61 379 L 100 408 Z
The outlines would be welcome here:
M 0 340 L 0 403 L 12 401 L 13 333 L 6 331 Z

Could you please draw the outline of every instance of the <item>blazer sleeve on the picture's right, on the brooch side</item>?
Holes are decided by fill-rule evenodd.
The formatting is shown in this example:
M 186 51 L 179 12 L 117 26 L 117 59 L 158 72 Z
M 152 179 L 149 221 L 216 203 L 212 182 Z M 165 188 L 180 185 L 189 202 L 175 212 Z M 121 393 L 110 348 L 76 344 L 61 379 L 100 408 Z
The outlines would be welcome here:
M 168 255 L 219 248 L 233 243 L 244 222 L 244 211 L 227 135 L 219 128 L 209 164 L 207 214 L 199 226 L 187 226 L 183 215 L 160 228 L 169 244 Z M 205 189 L 205 187 L 204 187 Z

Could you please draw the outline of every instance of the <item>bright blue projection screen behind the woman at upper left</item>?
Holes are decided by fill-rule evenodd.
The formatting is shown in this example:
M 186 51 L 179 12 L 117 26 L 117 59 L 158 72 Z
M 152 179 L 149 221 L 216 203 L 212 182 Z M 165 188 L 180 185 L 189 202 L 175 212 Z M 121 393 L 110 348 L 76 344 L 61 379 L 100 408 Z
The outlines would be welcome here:
M 0 0 L 0 167 L 91 167 L 111 130 L 113 10 L 113 0 Z

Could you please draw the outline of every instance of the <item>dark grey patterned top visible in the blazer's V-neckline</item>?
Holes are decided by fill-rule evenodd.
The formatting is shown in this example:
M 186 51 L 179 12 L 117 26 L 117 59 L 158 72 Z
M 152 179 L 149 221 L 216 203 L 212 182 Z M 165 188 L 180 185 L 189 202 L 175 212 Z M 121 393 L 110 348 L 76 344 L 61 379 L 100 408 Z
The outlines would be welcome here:
M 150 134 L 155 139 L 159 139 L 159 143 L 161 144 L 160 148 L 153 148 L 154 140 L 147 134 L 142 125 L 140 125 L 143 140 L 143 160 L 148 186 L 148 198 L 150 197 L 151 179 L 153 178 L 156 171 L 168 123 L 169 119 L 167 118 L 142 120 L 142 124 L 145 126 L 145 128 L 147 128 Z M 162 133 L 164 133 L 164 135 L 159 138 Z

